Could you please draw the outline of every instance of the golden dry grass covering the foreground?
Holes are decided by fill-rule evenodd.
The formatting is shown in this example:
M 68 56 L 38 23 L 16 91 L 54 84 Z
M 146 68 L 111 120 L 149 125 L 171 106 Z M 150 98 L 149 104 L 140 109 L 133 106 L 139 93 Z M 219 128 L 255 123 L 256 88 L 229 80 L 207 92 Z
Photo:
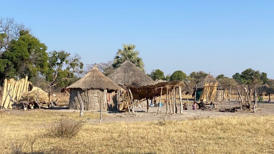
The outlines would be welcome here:
M 63 115 L 63 116 L 62 116 Z M 0 113 L 0 152 L 25 136 L 47 153 L 274 153 L 274 116 L 237 116 L 170 121 L 86 123 L 99 114 L 33 112 Z M 72 139 L 45 135 L 43 124 L 68 117 L 84 122 Z M 26 141 L 26 140 L 25 140 Z

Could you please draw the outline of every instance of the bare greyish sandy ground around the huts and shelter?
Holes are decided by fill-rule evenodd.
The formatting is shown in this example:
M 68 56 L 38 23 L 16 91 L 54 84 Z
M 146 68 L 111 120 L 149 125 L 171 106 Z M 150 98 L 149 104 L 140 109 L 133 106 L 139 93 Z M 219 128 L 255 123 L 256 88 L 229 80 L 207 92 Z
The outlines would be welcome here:
M 231 112 L 220 112 L 219 108 L 232 108 L 235 106 L 239 106 L 239 103 L 236 103 L 235 100 L 231 101 L 229 103 L 228 101 L 224 101 L 222 104 L 218 103 L 217 110 L 211 110 L 211 111 L 204 111 L 204 110 L 192 110 L 192 102 L 190 102 L 188 106 L 188 110 L 183 110 L 183 113 L 180 114 L 180 105 L 177 105 L 178 113 L 177 114 L 166 114 L 166 104 L 163 104 L 164 106 L 161 107 L 160 114 L 157 114 L 158 107 L 149 107 L 148 112 L 147 107 L 135 107 L 135 114 L 136 116 L 133 116 L 132 114 L 121 113 L 121 112 L 103 112 L 105 117 L 102 119 L 102 122 L 133 122 L 133 121 L 158 121 L 163 119 L 168 120 L 183 120 L 183 119 L 196 119 L 196 118 L 203 118 L 203 117 L 218 117 L 218 116 L 246 116 L 246 115 L 273 115 L 274 114 L 274 102 L 261 102 L 258 103 L 258 108 L 261 110 L 257 110 L 256 113 L 253 113 L 253 111 L 250 110 L 237 110 L 237 112 L 231 113 Z M 253 104 L 253 103 L 252 103 Z M 79 112 L 79 110 L 68 110 L 65 107 L 55 107 L 53 109 L 41 109 L 41 112 Z M 33 113 L 37 112 L 37 110 L 0 110 L 0 112 L 9 112 L 9 113 Z M 84 111 L 86 112 L 99 112 L 99 111 Z M 90 123 L 96 123 L 99 121 L 98 119 L 90 119 L 88 122 Z

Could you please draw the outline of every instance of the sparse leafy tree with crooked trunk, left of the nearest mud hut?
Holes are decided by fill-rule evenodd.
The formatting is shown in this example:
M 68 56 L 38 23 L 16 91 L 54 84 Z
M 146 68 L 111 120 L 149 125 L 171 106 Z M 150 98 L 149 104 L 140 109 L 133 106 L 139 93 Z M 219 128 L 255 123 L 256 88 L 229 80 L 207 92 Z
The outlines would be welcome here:
M 81 57 L 78 54 L 70 56 L 70 53 L 65 51 L 49 53 L 49 67 L 46 73 L 46 80 L 51 82 L 49 85 L 49 101 L 53 86 L 65 85 L 70 78 L 75 77 L 75 74 L 83 73 L 84 64 L 80 60 Z M 62 69 L 63 67 L 65 69 Z

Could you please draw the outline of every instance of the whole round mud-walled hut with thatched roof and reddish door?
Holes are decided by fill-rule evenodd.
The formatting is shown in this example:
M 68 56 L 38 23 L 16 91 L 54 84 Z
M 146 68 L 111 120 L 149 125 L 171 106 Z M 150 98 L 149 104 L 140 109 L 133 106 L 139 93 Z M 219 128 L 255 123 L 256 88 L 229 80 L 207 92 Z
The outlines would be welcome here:
M 84 103 L 84 110 L 99 110 L 102 102 L 102 109 L 113 111 L 117 109 L 116 90 L 121 89 L 95 66 L 80 80 L 74 82 L 67 88 L 70 89 L 69 109 L 80 110 L 80 103 L 77 93 L 80 93 Z M 104 94 L 106 92 L 106 94 Z M 105 97 L 106 96 L 106 101 Z

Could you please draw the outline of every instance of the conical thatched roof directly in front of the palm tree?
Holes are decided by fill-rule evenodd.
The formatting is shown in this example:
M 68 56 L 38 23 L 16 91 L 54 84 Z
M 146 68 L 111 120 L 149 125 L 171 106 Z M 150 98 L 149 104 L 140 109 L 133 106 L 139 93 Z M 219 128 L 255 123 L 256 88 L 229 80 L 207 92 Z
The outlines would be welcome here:
M 109 76 L 116 84 L 127 84 L 133 86 L 146 86 L 154 84 L 144 72 L 126 60 L 120 67 L 116 68 Z

